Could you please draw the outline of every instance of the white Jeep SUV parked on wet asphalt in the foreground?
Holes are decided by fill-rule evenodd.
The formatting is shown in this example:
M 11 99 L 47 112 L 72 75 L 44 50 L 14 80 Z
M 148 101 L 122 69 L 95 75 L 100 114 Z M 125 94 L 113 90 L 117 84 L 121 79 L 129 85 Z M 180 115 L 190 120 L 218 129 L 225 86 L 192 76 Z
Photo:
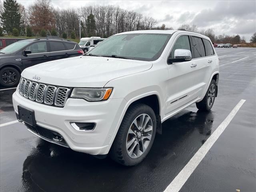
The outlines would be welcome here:
M 193 103 L 210 110 L 218 80 L 208 37 L 145 30 L 26 68 L 12 97 L 18 120 L 38 137 L 132 166 L 146 157 L 162 122 Z

